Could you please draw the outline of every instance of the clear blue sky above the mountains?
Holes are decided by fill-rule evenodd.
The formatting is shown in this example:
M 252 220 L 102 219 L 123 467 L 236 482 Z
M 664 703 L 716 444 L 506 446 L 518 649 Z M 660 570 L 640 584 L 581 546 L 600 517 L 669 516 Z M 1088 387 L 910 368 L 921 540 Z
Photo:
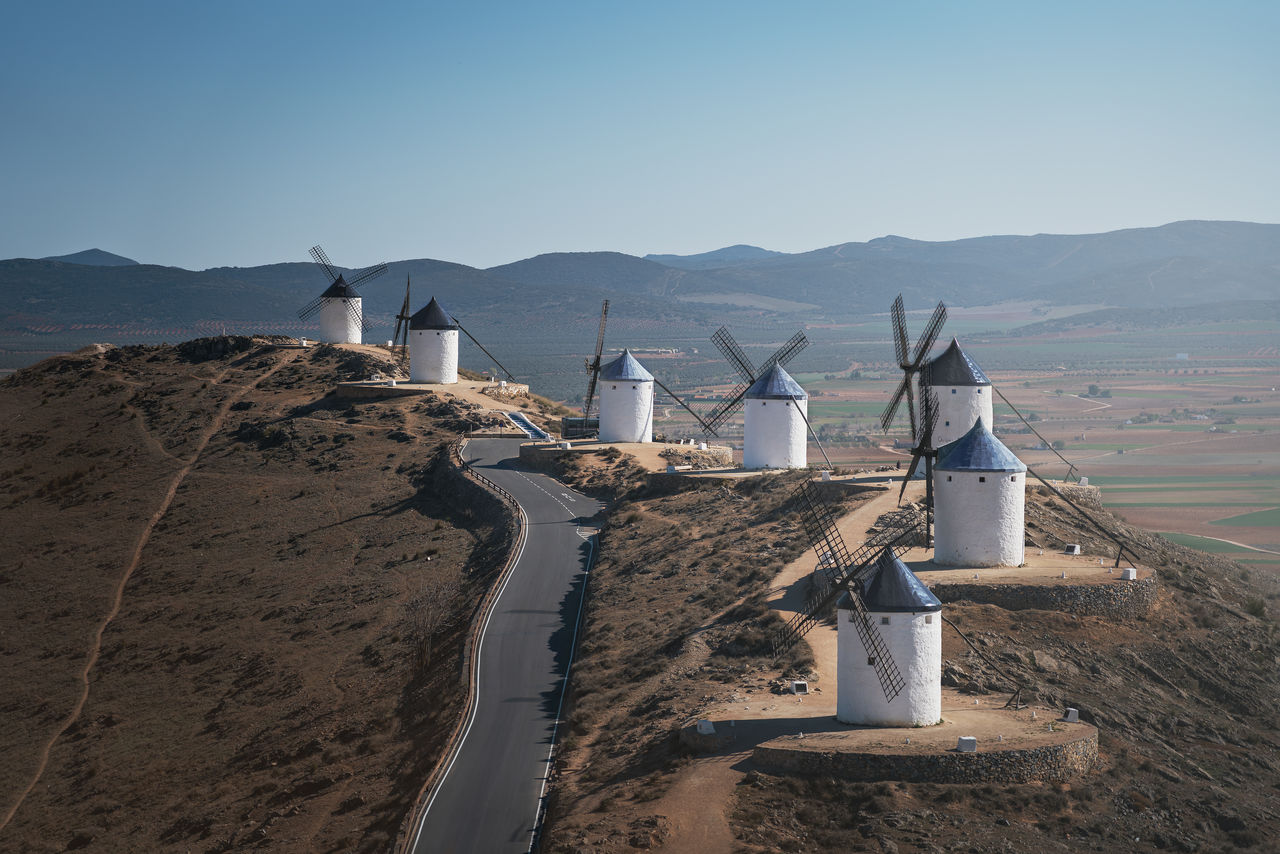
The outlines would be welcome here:
M 1274 0 L 6 5 L 0 257 L 1280 222 Z

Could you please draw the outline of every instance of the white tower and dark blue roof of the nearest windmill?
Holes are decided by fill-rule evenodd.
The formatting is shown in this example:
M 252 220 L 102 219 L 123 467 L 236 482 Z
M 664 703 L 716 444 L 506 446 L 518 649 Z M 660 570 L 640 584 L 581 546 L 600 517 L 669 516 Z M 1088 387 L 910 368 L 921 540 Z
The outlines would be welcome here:
M 861 590 L 869 627 L 904 688 L 884 697 L 876 653 L 859 631 L 859 609 L 846 593 L 836 603 L 836 718 L 861 726 L 932 726 L 942 718 L 942 603 L 887 549 Z

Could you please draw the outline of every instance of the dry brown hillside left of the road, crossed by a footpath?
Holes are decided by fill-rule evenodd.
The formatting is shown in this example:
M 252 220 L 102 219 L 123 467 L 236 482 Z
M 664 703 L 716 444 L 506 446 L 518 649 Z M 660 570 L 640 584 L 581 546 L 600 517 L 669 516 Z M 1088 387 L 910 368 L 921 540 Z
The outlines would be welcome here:
M 376 357 L 95 348 L 0 383 L 0 849 L 387 850 L 509 515 Z

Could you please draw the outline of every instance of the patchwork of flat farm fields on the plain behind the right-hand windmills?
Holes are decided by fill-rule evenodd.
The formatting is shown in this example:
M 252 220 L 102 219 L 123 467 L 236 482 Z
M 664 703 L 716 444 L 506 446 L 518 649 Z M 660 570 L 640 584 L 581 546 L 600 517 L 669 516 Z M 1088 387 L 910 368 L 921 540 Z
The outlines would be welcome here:
M 952 311 L 942 335 L 960 337 L 1007 398 L 997 396 L 995 410 L 1005 443 L 1050 479 L 1069 474 L 1060 453 L 1073 467 L 1071 479 L 1083 475 L 1101 487 L 1103 503 L 1134 525 L 1280 572 L 1280 350 L 1274 321 L 1055 330 L 1038 318 L 1034 326 L 993 328 L 1025 324 L 1033 311 Z M 909 326 L 923 326 L 923 314 L 913 315 Z M 1038 332 L 1023 334 L 1025 329 Z M 810 423 L 837 466 L 893 466 L 910 456 L 895 448 L 895 440 L 909 439 L 906 407 L 888 434 L 878 423 L 900 380 L 887 361 L 887 332 L 883 316 L 838 330 L 809 329 L 814 346 L 792 365 L 810 396 Z M 826 370 L 814 366 L 814 351 L 824 353 Z M 699 392 L 714 398 L 728 388 Z M 678 407 L 659 407 L 655 424 L 669 425 L 673 434 L 692 428 Z M 741 419 L 722 435 L 740 443 Z M 814 443 L 810 461 L 822 461 Z

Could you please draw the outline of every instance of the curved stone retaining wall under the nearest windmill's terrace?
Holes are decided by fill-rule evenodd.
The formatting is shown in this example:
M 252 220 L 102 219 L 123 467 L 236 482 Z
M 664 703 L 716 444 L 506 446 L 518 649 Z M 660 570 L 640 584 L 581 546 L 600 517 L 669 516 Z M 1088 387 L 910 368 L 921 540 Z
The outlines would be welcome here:
M 1092 730 L 1092 727 L 1089 727 Z M 1098 758 L 1098 732 L 1068 744 L 978 753 L 886 755 L 796 750 L 759 745 L 751 759 L 765 771 L 859 782 L 1062 782 L 1085 773 Z

